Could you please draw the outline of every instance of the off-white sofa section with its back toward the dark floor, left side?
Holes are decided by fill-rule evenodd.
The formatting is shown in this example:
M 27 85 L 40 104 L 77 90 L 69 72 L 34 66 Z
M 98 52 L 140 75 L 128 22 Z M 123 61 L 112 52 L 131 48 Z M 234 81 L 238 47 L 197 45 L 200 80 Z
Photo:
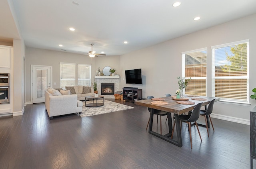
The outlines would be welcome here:
M 45 107 L 50 117 L 50 120 L 54 116 L 60 116 L 64 114 L 72 114 L 82 112 L 83 102 L 77 100 L 77 95 L 57 95 L 54 96 L 47 90 L 44 92 L 45 94 Z

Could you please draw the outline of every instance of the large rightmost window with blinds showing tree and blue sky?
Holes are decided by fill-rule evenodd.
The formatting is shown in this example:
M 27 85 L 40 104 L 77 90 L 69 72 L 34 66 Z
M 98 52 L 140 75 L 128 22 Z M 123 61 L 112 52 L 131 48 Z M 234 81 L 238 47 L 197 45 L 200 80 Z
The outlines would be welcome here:
M 212 46 L 212 96 L 248 103 L 249 40 Z

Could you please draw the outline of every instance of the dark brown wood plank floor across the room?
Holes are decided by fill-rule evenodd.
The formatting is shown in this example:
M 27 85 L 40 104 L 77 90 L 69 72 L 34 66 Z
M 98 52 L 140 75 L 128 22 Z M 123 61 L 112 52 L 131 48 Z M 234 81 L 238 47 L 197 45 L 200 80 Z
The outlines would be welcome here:
M 199 126 L 202 142 L 192 127 L 191 149 L 184 123 L 183 146 L 177 147 L 148 134 L 147 108 L 124 104 L 135 108 L 49 120 L 44 104 L 37 104 L 27 105 L 22 116 L 1 117 L 0 169 L 250 168 L 250 126 L 213 118 L 215 132 L 210 128 L 210 138 L 206 128 Z M 165 119 L 163 134 L 168 127 Z M 203 123 L 204 118 L 200 121 Z M 159 125 L 153 130 L 160 132 Z

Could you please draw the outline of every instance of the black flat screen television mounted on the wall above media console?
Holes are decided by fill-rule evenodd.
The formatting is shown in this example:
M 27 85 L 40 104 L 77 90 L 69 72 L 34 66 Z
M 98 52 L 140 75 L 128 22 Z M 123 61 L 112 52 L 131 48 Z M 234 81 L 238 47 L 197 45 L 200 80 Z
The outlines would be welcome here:
M 125 71 L 126 84 L 142 84 L 141 69 Z

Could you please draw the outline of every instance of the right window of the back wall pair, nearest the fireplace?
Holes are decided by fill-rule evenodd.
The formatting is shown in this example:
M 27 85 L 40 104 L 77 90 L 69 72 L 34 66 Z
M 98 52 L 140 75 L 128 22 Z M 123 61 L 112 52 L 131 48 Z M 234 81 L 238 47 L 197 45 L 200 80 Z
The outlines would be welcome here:
M 91 65 L 78 64 L 78 85 L 91 86 Z

